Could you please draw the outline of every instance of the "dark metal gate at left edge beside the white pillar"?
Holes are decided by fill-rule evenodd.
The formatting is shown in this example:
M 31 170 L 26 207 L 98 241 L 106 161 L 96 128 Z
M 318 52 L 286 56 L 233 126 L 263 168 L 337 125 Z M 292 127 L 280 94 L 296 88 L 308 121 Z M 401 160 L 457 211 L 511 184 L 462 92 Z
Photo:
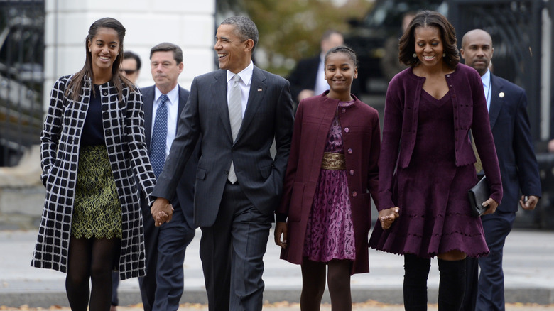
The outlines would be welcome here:
M 44 16 L 44 0 L 0 0 L 0 166 L 39 143 Z

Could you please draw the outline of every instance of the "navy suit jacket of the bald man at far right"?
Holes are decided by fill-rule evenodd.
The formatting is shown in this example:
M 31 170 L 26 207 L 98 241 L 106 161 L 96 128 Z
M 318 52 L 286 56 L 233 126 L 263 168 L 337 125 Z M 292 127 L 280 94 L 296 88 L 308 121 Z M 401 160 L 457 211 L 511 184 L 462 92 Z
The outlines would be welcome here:
M 527 97 L 516 84 L 491 74 L 491 123 L 504 199 L 501 212 L 517 212 L 521 192 L 541 197 L 541 180 L 531 141 Z

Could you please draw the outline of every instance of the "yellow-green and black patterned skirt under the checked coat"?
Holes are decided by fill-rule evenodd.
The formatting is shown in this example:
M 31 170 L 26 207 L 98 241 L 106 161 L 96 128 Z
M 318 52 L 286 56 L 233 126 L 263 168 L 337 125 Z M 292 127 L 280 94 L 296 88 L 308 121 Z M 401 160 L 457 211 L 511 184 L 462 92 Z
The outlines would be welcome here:
M 81 146 L 71 235 L 121 239 L 121 204 L 106 146 Z

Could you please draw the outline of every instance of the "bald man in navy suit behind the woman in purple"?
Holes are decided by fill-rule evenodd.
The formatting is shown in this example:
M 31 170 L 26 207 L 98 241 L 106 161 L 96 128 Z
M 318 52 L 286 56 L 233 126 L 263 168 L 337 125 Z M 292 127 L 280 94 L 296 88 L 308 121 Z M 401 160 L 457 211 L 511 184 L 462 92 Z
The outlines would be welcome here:
M 490 72 L 493 52 L 492 39 L 486 31 L 474 29 L 462 38 L 460 54 L 466 65 L 479 72 L 483 81 L 504 190 L 496 212 L 481 217 L 489 256 L 479 260 L 467 258 L 466 293 L 462 305 L 462 310 L 466 311 L 504 310 L 504 241 L 514 224 L 518 202 L 523 209 L 534 209 L 541 196 L 541 181 L 526 111 L 526 94 L 521 87 Z M 523 193 L 521 197 L 520 190 Z M 477 262 L 481 267 L 480 274 Z

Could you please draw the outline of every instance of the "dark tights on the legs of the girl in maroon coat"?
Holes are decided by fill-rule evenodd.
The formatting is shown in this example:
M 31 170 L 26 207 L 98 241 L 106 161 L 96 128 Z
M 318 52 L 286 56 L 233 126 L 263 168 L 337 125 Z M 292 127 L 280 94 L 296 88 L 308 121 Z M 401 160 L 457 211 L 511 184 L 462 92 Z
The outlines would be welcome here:
M 320 263 L 304 258 L 300 310 L 320 310 L 321 298 L 325 291 L 325 268 L 329 269 L 327 283 L 331 296 L 331 310 L 352 310 L 352 295 L 350 294 L 351 266 L 352 261 L 348 260 L 332 260 L 328 263 Z

